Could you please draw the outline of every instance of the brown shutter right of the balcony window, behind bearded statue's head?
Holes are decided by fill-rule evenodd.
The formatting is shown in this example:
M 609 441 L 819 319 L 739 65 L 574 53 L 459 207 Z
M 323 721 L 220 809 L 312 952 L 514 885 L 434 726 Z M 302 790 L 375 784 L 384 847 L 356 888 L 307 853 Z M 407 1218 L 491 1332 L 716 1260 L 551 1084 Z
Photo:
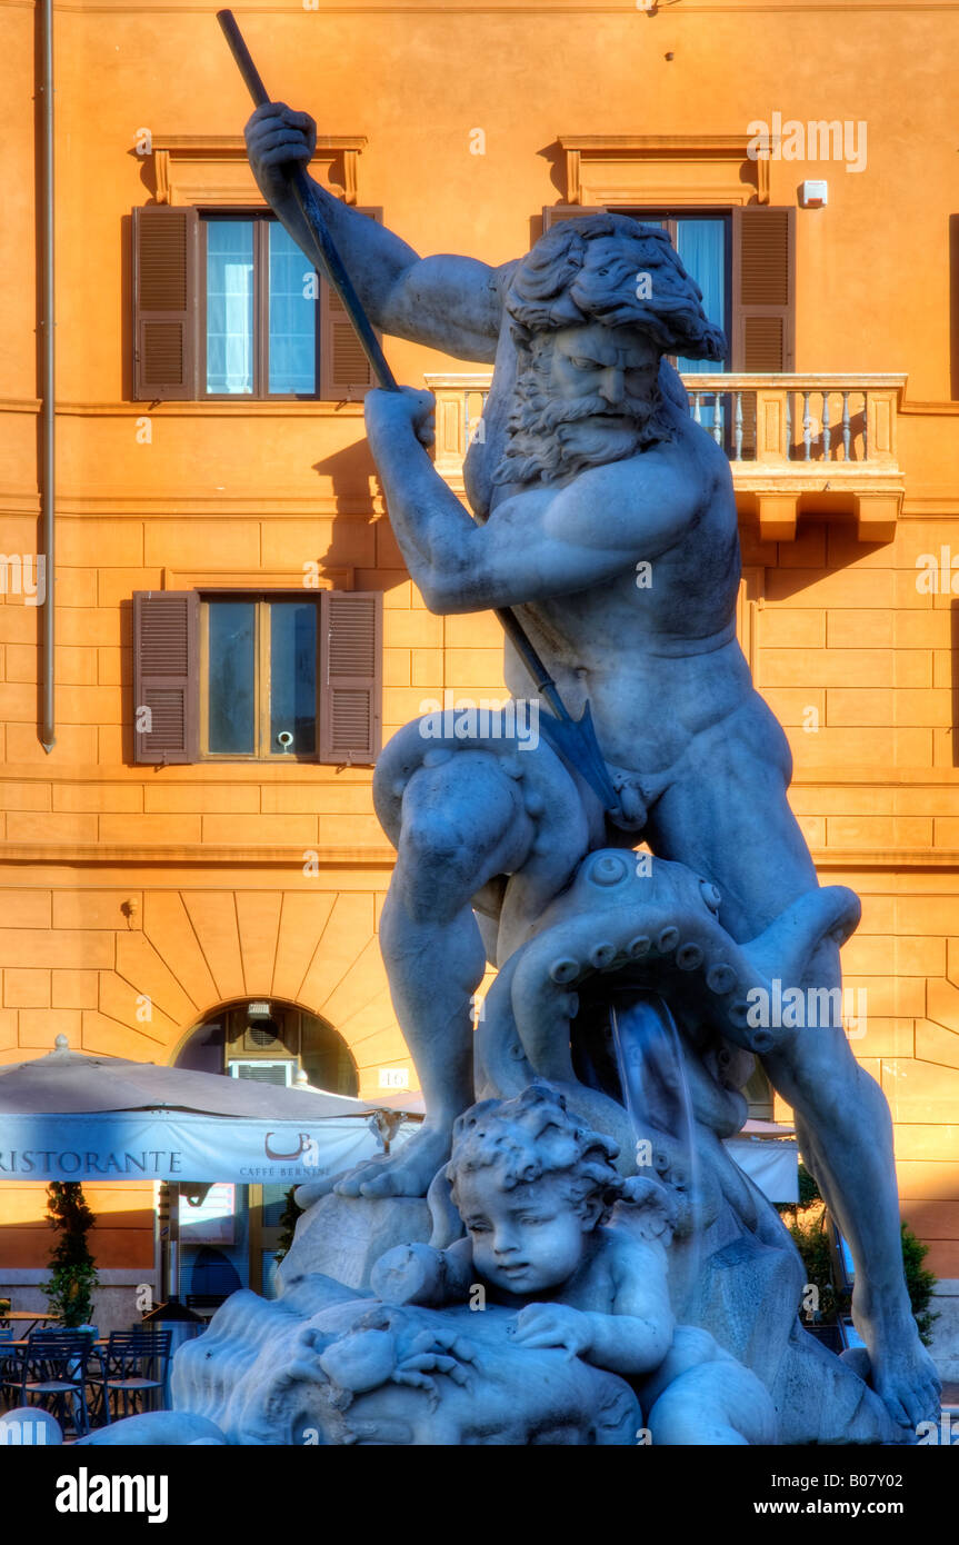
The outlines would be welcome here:
M 732 369 L 795 369 L 795 210 L 732 212 Z

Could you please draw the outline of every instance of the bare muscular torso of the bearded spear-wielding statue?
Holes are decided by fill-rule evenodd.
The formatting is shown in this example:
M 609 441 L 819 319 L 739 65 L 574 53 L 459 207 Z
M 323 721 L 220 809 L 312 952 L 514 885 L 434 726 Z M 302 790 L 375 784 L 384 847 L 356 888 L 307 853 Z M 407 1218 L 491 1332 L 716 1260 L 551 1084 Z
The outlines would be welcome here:
M 511 264 L 499 270 L 505 287 Z M 669 365 L 662 382 L 679 386 Z M 548 490 L 517 491 L 493 482 L 507 443 L 516 386 L 516 346 L 500 328 L 494 380 L 465 465 L 466 491 L 480 519 L 510 496 L 530 504 L 531 533 Z M 669 457 L 676 484 L 698 482 L 696 514 L 681 539 L 652 559 L 641 550 L 613 581 L 588 590 L 516 606 L 528 637 L 550 669 L 564 703 L 578 717 L 588 698 L 604 756 L 633 772 L 662 772 L 703 729 L 732 714 L 751 694 L 749 667 L 735 641 L 740 545 L 729 464 L 689 414 L 670 402 L 672 445 L 618 464 L 622 479 L 642 477 L 647 456 Z M 602 510 L 596 511 L 598 525 Z M 534 536 L 531 535 L 534 541 Z M 649 579 L 649 582 L 646 582 Z M 639 581 L 639 582 L 638 582 Z M 524 664 L 507 644 L 507 684 L 531 694 Z

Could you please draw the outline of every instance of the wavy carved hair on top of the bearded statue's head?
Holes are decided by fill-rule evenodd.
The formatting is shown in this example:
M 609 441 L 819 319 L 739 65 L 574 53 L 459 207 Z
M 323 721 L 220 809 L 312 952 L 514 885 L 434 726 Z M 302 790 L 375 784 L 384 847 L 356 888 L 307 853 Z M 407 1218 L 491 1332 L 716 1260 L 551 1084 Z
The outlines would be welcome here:
M 590 264 L 590 244 L 615 236 L 616 250 Z M 649 298 L 636 278 L 650 277 Z M 689 277 L 664 230 L 627 215 L 581 215 L 553 226 L 517 264 L 505 297 L 519 346 L 534 332 L 587 321 L 647 332 L 664 354 L 721 360 L 723 331 L 703 311 L 703 292 Z

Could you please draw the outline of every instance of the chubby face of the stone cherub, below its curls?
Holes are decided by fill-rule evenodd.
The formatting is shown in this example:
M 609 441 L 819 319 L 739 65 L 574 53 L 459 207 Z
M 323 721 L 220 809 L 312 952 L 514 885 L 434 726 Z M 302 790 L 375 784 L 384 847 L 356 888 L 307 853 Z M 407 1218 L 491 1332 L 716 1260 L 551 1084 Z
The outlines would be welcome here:
M 456 1193 L 477 1272 L 507 1293 L 559 1287 L 582 1262 L 598 1208 L 570 1200 L 568 1177 L 503 1191 L 493 1168 L 471 1170 L 457 1176 Z

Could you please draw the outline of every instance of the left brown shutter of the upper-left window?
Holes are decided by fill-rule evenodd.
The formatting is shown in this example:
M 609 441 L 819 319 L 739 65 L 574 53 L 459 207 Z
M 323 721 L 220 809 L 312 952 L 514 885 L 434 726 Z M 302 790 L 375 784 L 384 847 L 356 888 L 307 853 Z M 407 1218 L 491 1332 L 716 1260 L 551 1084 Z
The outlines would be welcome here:
M 199 215 L 133 210 L 133 396 L 196 399 Z

